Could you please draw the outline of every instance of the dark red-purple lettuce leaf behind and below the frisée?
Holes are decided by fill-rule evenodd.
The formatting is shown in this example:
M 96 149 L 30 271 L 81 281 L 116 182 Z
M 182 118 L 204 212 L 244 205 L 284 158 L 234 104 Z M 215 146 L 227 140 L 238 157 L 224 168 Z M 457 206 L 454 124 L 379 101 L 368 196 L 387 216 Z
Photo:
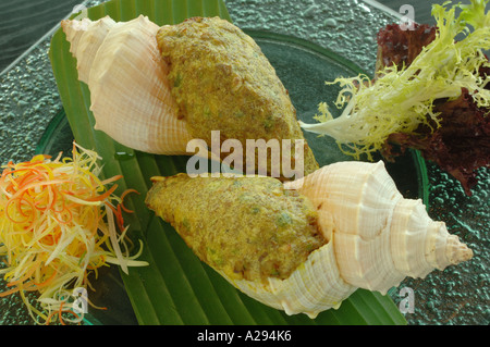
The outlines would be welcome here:
M 402 30 L 395 24 L 381 29 L 378 34 L 377 71 L 391 64 L 409 65 L 422 47 L 430 44 L 436 30 L 428 25 Z M 490 75 L 490 69 L 482 67 L 479 73 Z M 433 110 L 439 113 L 440 127 L 433 124 L 432 128 L 420 126 L 413 134 L 391 134 L 382 156 L 393 160 L 407 148 L 417 149 L 426 160 L 437 163 L 460 181 L 466 195 L 470 196 L 477 184 L 476 170 L 490 168 L 490 109 L 479 108 L 468 90 L 463 88 L 455 100 L 437 100 Z

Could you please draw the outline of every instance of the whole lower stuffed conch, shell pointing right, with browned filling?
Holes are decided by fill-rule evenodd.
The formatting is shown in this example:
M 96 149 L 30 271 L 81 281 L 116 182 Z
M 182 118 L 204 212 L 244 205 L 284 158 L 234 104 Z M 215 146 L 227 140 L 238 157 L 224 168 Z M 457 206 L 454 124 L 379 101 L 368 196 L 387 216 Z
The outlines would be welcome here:
M 287 314 L 339 308 L 357 288 L 385 294 L 406 276 L 473 251 L 420 200 L 405 199 L 383 162 L 339 162 L 293 182 L 154 177 L 146 203 L 232 285 Z

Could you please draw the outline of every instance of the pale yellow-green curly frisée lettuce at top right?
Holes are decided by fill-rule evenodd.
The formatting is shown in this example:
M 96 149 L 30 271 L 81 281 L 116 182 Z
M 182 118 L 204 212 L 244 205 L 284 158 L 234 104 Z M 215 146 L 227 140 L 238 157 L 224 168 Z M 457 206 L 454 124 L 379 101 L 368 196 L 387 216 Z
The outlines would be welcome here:
M 482 53 L 490 49 L 487 2 L 433 5 L 436 37 L 409 65 L 385 65 L 376 80 L 359 75 L 328 83 L 342 88 L 334 102 L 343 108 L 342 113 L 333 117 L 327 103 L 321 102 L 315 116 L 319 123 L 301 122 L 302 127 L 333 137 L 342 151 L 356 159 L 366 154 L 371 160 L 391 134 L 440 127 L 440 114 L 433 107 L 437 100 L 454 100 L 467 90 L 478 108 L 489 108 L 490 90 L 486 85 L 490 75 L 480 74 L 481 69 L 490 66 Z M 457 9 L 461 13 L 456 16 Z M 460 34 L 464 38 L 456 41 Z

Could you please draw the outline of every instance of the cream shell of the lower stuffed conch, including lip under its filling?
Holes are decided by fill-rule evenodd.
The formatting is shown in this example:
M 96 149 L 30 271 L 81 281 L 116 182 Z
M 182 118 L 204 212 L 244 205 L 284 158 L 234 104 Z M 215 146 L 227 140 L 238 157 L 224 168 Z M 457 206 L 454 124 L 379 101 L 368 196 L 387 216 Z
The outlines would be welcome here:
M 166 205 L 172 202 L 161 198 L 158 191 L 171 189 L 173 176 L 155 177 L 154 182 L 147 205 L 162 216 Z M 383 162 L 334 163 L 285 183 L 284 188 L 296 190 L 313 203 L 328 243 L 311 251 L 286 278 L 233 278 L 222 269 L 213 268 L 248 296 L 287 314 L 303 312 L 315 318 L 323 310 L 339 308 L 358 287 L 385 294 L 406 276 L 425 277 L 434 269 L 443 270 L 473 257 L 473 251 L 457 236 L 448 233 L 443 222 L 429 218 L 420 200 L 403 198 Z M 212 181 L 209 189 L 216 189 Z M 186 239 L 192 235 L 188 230 L 182 231 L 185 219 L 189 218 L 184 200 L 189 197 L 192 201 L 195 191 L 177 194 L 183 206 L 171 207 L 174 215 L 170 220 Z M 203 208 L 208 205 L 203 203 Z M 229 209 L 233 210 L 233 206 Z M 229 216 L 213 214 L 217 218 Z M 206 227 L 206 221 L 197 223 Z M 246 228 L 243 225 L 242 231 L 234 232 Z

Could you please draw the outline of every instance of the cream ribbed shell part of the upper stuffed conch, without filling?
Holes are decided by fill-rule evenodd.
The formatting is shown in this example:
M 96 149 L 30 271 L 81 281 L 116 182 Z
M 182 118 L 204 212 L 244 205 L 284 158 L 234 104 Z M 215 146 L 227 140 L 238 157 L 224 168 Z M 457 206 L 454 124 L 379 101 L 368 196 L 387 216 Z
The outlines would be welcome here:
M 78 79 L 90 90 L 95 128 L 120 144 L 158 154 L 188 154 L 192 139 L 170 94 L 159 26 L 146 16 L 114 22 L 62 21 Z

